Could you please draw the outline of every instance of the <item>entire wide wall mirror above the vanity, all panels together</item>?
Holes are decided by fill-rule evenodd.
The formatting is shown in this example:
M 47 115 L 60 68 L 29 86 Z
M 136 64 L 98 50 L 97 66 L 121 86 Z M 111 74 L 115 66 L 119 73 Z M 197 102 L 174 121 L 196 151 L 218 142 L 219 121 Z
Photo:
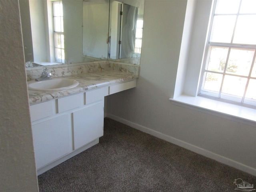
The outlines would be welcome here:
M 144 0 L 19 3 L 27 67 L 107 59 L 140 64 Z

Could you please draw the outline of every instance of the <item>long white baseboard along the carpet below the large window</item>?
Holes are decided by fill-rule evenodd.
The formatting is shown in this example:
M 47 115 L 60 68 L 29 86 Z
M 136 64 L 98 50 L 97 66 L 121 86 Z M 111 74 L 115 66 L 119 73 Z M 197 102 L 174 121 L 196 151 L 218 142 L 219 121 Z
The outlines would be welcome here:
M 132 128 L 135 128 L 137 130 L 140 130 L 142 132 L 145 132 L 147 134 L 150 134 L 150 135 L 155 136 L 157 138 L 160 138 L 162 140 L 166 140 L 166 141 L 168 141 L 170 143 L 173 143 L 173 144 L 176 144 L 176 145 L 181 146 L 183 148 L 186 148 L 186 149 L 188 149 L 190 151 L 196 152 L 197 154 L 206 156 L 208 158 L 214 159 L 214 160 L 216 160 L 218 162 L 221 162 L 223 164 L 226 164 L 228 166 L 234 167 L 236 169 L 242 170 L 244 172 L 247 172 L 249 174 L 252 174 L 252 175 L 256 176 L 256 169 L 255 168 L 249 167 L 249 166 L 244 165 L 244 164 L 242 164 L 240 162 L 234 161 L 234 160 L 226 158 L 224 156 L 220 156 L 220 155 L 218 155 L 216 153 L 213 153 L 213 152 L 210 152 L 210 151 L 205 150 L 203 148 L 200 148 L 198 146 L 189 144 L 189 143 L 184 142 L 182 140 L 178 140 L 178 139 L 176 139 L 174 137 L 162 134 L 162 133 L 157 132 L 155 130 L 152 130 L 150 128 L 147 128 L 147 127 L 141 126 L 139 124 L 136 124 L 134 122 L 130 122 L 130 121 L 126 120 L 126 119 L 120 118 L 120 117 L 115 116 L 113 114 L 106 114 L 106 117 L 111 118 L 113 120 L 116 120 L 118 122 L 121 122 L 123 124 L 126 124 L 126 125 L 128 125 L 128 126 L 130 126 Z

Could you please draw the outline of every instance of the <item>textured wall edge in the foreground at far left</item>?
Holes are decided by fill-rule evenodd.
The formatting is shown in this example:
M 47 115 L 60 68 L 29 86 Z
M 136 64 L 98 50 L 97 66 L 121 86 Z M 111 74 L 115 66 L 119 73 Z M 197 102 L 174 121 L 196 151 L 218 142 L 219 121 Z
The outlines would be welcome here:
M 0 0 L 0 18 L 0 191 L 36 192 L 18 0 Z

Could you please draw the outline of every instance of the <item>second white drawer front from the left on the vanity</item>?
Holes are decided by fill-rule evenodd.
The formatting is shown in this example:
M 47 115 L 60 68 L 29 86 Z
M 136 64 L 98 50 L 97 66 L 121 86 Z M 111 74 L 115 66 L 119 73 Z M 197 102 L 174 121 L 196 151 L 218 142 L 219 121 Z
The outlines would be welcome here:
M 58 113 L 84 105 L 84 94 L 75 94 L 58 99 Z

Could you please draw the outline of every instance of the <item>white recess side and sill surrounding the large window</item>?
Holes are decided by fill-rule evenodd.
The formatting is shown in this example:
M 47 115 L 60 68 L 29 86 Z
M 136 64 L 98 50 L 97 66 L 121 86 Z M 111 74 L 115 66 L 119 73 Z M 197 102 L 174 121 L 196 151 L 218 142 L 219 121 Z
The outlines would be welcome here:
M 178 106 L 255 126 L 254 108 L 198 96 L 212 8 L 213 0 L 187 2 L 175 89 L 170 101 Z

